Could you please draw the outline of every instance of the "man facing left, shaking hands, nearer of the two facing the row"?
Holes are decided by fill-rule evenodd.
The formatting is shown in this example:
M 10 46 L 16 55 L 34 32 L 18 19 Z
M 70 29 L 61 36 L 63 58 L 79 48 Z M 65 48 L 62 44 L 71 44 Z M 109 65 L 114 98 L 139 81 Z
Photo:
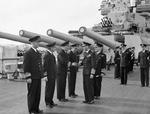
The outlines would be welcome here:
M 85 95 L 85 101 L 83 103 L 93 104 L 94 103 L 94 87 L 93 87 L 93 77 L 95 73 L 94 69 L 94 57 L 93 52 L 90 49 L 90 45 L 84 42 L 84 58 L 82 61 L 83 65 L 83 90 Z

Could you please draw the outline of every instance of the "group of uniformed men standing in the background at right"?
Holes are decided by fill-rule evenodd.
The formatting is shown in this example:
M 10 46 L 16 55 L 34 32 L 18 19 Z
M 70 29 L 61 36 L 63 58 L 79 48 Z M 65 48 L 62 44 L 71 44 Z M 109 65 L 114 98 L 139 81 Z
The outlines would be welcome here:
M 146 44 L 140 44 L 142 50 L 138 53 L 137 66 L 140 66 L 141 87 L 149 86 L 149 62 L 150 51 Z M 115 50 L 115 73 L 114 78 L 121 78 L 121 85 L 126 85 L 128 73 L 133 71 L 135 64 L 135 47 L 126 48 L 126 44 L 116 47 Z

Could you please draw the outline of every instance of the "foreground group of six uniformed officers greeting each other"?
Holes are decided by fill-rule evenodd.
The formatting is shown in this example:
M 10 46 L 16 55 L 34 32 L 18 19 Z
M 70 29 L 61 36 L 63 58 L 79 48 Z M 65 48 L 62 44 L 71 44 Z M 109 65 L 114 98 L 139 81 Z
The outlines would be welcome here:
M 94 48 L 91 44 L 84 42 L 83 60 L 79 62 L 79 54 L 76 50 L 77 44 L 72 44 L 71 49 L 69 42 L 63 43 L 57 49 L 58 55 L 53 52 L 56 50 L 55 43 L 48 44 L 47 52 L 43 57 L 38 51 L 40 36 L 30 38 L 31 48 L 25 52 L 23 68 L 27 80 L 27 103 L 29 114 L 39 114 L 43 111 L 39 109 L 41 96 L 41 79 L 46 81 L 45 85 L 45 104 L 52 108 L 57 104 L 53 101 L 55 90 L 55 80 L 57 82 L 57 99 L 60 102 L 67 102 L 65 96 L 66 79 L 68 75 L 69 97 L 75 98 L 76 76 L 78 66 L 83 65 L 83 90 L 85 101 L 83 103 L 93 104 L 94 99 L 100 98 L 101 93 L 101 69 L 105 67 L 106 55 L 103 53 L 103 45 L 96 43 Z

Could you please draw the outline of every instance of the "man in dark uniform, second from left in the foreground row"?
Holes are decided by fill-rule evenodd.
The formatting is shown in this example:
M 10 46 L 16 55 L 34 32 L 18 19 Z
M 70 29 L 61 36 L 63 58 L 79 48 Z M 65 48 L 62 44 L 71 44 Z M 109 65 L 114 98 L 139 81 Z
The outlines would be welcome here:
M 57 104 L 53 101 L 54 90 L 55 90 L 55 79 L 56 79 L 56 58 L 53 54 L 55 49 L 55 43 L 48 44 L 47 52 L 44 56 L 44 73 L 47 77 L 45 78 L 45 104 L 46 106 L 52 108 Z

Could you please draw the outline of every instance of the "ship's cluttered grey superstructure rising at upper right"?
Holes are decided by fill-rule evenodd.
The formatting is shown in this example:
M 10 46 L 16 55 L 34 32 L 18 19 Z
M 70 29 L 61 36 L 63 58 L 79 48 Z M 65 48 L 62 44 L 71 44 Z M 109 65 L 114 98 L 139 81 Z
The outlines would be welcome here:
M 150 44 L 150 0 L 102 0 L 99 11 L 103 18 L 93 31 L 114 35 L 119 42 L 128 43 L 126 37 L 137 36 Z

